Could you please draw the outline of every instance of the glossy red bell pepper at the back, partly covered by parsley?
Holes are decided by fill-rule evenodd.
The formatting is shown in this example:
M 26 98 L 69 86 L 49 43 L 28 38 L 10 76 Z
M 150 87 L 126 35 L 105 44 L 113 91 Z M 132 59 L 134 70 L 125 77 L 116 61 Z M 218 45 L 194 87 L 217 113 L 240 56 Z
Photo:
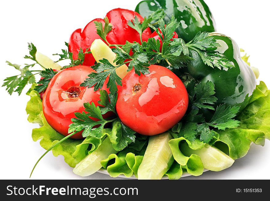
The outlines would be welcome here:
M 109 22 L 112 24 L 112 31 L 108 33 L 106 37 L 107 41 L 110 44 L 122 45 L 124 45 L 126 41 L 137 41 L 141 43 L 139 33 L 127 25 L 128 21 L 133 20 L 135 16 L 137 16 L 140 21 L 143 21 L 143 17 L 132 10 L 117 8 L 109 11 L 106 17 L 108 17 Z M 83 30 L 77 29 L 71 34 L 68 49 L 73 53 L 73 59 L 78 58 L 80 47 L 85 51 L 87 48 L 91 47 L 95 39 L 101 39 L 97 34 L 94 21 L 101 22 L 103 26 L 105 24 L 103 19 L 97 18 L 89 22 Z M 151 34 L 150 28 L 147 28 L 142 34 L 142 40 L 147 41 Z M 95 59 L 92 54 L 86 54 L 83 65 L 92 66 L 94 64 Z

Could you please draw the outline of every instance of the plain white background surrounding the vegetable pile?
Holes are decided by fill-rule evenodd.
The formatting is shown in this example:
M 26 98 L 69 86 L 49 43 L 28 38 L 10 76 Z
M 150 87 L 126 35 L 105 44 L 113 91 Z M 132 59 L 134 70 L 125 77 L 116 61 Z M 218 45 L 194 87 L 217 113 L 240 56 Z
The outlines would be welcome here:
M 24 64 L 28 54 L 27 42 L 33 42 L 38 51 L 57 60 L 54 53 L 65 48 L 69 36 L 89 21 L 104 17 L 117 7 L 135 9 L 139 0 L 116 1 L 2 1 L 0 8 L 0 84 L 8 76 L 16 75 L 5 61 Z M 270 88 L 269 80 L 269 19 L 270 2 L 265 0 L 205 0 L 215 18 L 218 32 L 229 35 L 238 46 L 250 54 L 251 65 L 260 69 L 260 80 Z M 31 62 L 31 61 L 30 61 Z M 248 80 L 247 80 L 248 81 Z M 224 83 L 226 84 L 226 83 Z M 1 163 L 0 179 L 28 179 L 37 159 L 44 153 L 39 142 L 31 138 L 37 125 L 27 121 L 25 112 L 29 97 L 25 91 L 18 96 L 8 95 L 4 87 L 1 94 Z M 265 146 L 252 145 L 248 154 L 221 172 L 206 172 L 199 177 L 182 179 L 270 179 L 270 141 Z M 95 173 L 79 177 L 72 172 L 62 156 L 48 153 L 37 165 L 31 179 L 110 179 Z M 122 178 L 116 178 L 122 179 Z

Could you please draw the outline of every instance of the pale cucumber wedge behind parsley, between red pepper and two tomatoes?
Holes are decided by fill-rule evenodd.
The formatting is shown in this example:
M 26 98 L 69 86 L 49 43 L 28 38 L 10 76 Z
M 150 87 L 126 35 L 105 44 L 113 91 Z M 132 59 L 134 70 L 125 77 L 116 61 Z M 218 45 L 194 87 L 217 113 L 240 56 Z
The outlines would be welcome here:
M 93 57 L 98 63 L 99 60 L 104 58 L 107 59 L 112 65 L 117 66 L 116 63 L 114 63 L 116 54 L 101 39 L 95 39 L 91 44 L 90 50 Z M 127 74 L 127 69 L 128 67 L 124 64 L 118 67 L 115 72 L 119 77 L 123 78 Z

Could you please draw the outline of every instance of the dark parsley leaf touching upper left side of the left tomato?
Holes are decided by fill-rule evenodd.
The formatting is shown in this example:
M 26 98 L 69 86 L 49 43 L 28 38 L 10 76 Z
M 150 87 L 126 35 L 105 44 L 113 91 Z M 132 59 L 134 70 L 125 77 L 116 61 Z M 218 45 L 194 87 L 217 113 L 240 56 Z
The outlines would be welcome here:
M 34 90 L 36 90 L 38 93 L 44 92 L 47 87 L 49 82 L 52 80 L 53 76 L 55 76 L 57 72 L 53 71 L 53 69 L 45 69 L 43 71 L 41 71 L 40 76 L 42 77 L 42 79 L 40 79 L 37 82 L 37 86 L 35 87 Z

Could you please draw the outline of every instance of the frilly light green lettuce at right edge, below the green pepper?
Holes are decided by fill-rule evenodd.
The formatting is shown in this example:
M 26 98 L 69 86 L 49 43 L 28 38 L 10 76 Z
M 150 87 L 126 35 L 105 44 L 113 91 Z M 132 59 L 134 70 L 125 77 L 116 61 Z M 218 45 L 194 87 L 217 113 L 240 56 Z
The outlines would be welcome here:
M 270 93 L 264 82 L 257 85 L 251 102 L 237 120 L 240 126 L 218 131 L 219 139 L 214 143 L 233 159 L 244 157 L 251 142 L 264 146 L 265 138 L 270 139 Z

